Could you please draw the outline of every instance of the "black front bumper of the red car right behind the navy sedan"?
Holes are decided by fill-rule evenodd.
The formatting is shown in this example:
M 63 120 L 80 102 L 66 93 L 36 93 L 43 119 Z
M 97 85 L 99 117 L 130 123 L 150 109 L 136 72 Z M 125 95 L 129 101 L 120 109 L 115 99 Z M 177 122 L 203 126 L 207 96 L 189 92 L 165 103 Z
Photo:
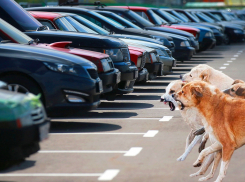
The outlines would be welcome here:
M 107 73 L 100 73 L 100 79 L 103 83 L 103 94 L 111 92 L 115 85 L 117 85 L 121 81 L 121 72 L 118 69 L 114 69 L 113 71 Z

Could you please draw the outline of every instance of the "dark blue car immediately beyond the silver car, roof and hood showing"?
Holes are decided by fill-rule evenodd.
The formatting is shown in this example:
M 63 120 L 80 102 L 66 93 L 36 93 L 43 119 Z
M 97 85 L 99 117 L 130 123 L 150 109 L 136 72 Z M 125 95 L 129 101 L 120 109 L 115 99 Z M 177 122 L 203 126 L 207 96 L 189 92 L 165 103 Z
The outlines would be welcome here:
M 109 36 L 115 37 L 116 36 L 115 34 L 123 34 L 124 36 L 137 35 L 137 36 L 142 36 L 142 37 L 147 37 L 147 38 L 157 38 L 159 41 L 162 42 L 162 45 L 165 45 L 169 48 L 174 47 L 174 44 L 169 42 L 169 41 L 172 41 L 172 39 L 168 36 L 164 36 L 163 34 L 160 34 L 160 33 L 148 32 L 148 31 L 138 29 L 138 28 L 137 29 L 136 28 L 126 28 L 122 26 L 121 24 L 109 18 L 106 18 L 103 15 L 98 14 L 96 11 L 91 11 L 91 10 L 80 8 L 80 7 L 36 7 L 36 8 L 27 8 L 27 10 L 28 11 L 74 13 L 96 24 L 100 28 L 107 30 L 111 34 Z M 84 22 L 84 20 L 81 20 L 78 17 L 74 17 L 74 19 L 76 19 L 82 24 Z M 89 26 L 89 25 L 86 24 L 85 26 Z M 89 28 L 93 29 L 91 26 L 89 26 Z

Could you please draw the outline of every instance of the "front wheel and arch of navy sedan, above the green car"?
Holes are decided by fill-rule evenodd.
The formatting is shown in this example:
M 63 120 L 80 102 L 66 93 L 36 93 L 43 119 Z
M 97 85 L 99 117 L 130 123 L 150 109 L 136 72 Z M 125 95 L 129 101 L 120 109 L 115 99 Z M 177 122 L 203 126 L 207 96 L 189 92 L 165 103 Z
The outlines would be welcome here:
M 39 86 L 30 78 L 23 75 L 5 75 L 0 78 L 2 81 L 8 84 L 7 88 L 13 92 L 19 92 L 23 94 L 33 93 L 34 95 L 42 94 Z M 44 104 L 43 94 L 41 95 L 41 101 Z

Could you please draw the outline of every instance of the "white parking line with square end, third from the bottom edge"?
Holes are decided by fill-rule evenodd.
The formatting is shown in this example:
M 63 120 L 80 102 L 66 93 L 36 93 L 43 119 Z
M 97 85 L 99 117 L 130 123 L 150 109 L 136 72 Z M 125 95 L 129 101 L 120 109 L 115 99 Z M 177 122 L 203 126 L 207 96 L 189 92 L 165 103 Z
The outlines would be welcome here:
M 143 137 L 154 137 L 158 130 L 149 130 L 146 133 L 49 133 L 49 135 L 143 135 Z

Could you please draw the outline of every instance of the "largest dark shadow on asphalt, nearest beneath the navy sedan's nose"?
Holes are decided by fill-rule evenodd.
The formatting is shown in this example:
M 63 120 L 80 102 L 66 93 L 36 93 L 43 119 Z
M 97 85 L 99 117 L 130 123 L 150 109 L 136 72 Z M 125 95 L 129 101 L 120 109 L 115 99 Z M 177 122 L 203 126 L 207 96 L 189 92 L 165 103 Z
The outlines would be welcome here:
M 67 122 L 52 121 L 50 133 L 74 133 L 74 132 L 102 132 L 119 130 L 122 127 L 108 123 L 86 123 L 86 122 Z

